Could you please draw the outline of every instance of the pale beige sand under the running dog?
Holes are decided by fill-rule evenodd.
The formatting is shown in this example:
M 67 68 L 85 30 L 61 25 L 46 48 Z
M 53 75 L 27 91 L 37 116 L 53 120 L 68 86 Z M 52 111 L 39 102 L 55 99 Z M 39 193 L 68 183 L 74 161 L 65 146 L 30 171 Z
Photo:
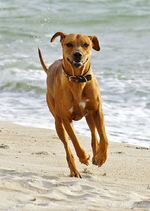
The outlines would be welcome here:
M 55 131 L 0 122 L 0 211 L 150 210 L 150 149 L 110 142 L 101 168 L 76 161 L 82 179 Z

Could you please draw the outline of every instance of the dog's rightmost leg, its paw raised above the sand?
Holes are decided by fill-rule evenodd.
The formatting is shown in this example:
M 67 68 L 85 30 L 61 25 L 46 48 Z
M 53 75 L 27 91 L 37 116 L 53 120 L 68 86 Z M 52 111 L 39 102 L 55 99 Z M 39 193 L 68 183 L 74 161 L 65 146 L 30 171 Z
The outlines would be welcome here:
M 100 136 L 100 143 L 94 158 L 94 164 L 101 166 L 107 159 L 108 138 L 105 131 L 104 114 L 101 108 L 94 112 L 94 121 Z

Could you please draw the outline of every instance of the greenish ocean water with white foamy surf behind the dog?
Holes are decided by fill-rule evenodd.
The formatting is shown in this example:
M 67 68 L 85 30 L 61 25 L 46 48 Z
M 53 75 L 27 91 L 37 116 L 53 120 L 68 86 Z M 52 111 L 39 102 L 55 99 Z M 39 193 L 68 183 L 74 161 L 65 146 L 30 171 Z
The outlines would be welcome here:
M 92 66 L 101 84 L 109 139 L 150 146 L 150 1 L 0 0 L 0 120 L 54 128 L 46 101 L 47 64 L 61 58 L 57 31 L 96 35 Z M 90 134 L 84 120 L 75 124 Z

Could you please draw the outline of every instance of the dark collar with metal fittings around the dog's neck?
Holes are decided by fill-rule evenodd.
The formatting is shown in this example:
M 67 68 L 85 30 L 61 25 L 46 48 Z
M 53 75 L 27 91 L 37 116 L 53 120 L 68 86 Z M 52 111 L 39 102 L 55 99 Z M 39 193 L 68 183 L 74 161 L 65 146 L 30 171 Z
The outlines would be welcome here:
M 92 79 L 91 74 L 86 75 L 89 72 L 90 67 L 89 67 L 88 71 L 86 73 L 84 73 L 83 75 L 70 75 L 70 74 L 68 74 L 65 71 L 63 64 L 62 64 L 62 68 L 63 68 L 63 72 L 64 72 L 65 76 L 69 79 L 69 81 L 73 81 L 75 83 L 84 83 L 84 82 L 90 81 Z

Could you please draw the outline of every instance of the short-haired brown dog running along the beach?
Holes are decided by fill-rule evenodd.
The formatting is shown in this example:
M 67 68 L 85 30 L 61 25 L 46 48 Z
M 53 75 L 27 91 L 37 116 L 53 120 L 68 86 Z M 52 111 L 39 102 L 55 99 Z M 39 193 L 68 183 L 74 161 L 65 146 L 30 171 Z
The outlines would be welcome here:
M 92 136 L 92 162 L 101 166 L 107 159 L 108 139 L 105 132 L 104 115 L 99 86 L 91 69 L 91 51 L 100 50 L 95 36 L 64 34 L 57 32 L 51 42 L 60 36 L 63 59 L 46 67 L 41 52 L 39 58 L 47 73 L 47 104 L 55 118 L 55 127 L 63 142 L 70 176 L 80 177 L 68 144 L 69 135 L 81 163 L 88 165 L 89 155 L 81 147 L 74 132 L 72 121 L 85 116 Z M 100 143 L 97 140 L 98 131 Z M 67 133 L 67 134 L 66 134 Z

